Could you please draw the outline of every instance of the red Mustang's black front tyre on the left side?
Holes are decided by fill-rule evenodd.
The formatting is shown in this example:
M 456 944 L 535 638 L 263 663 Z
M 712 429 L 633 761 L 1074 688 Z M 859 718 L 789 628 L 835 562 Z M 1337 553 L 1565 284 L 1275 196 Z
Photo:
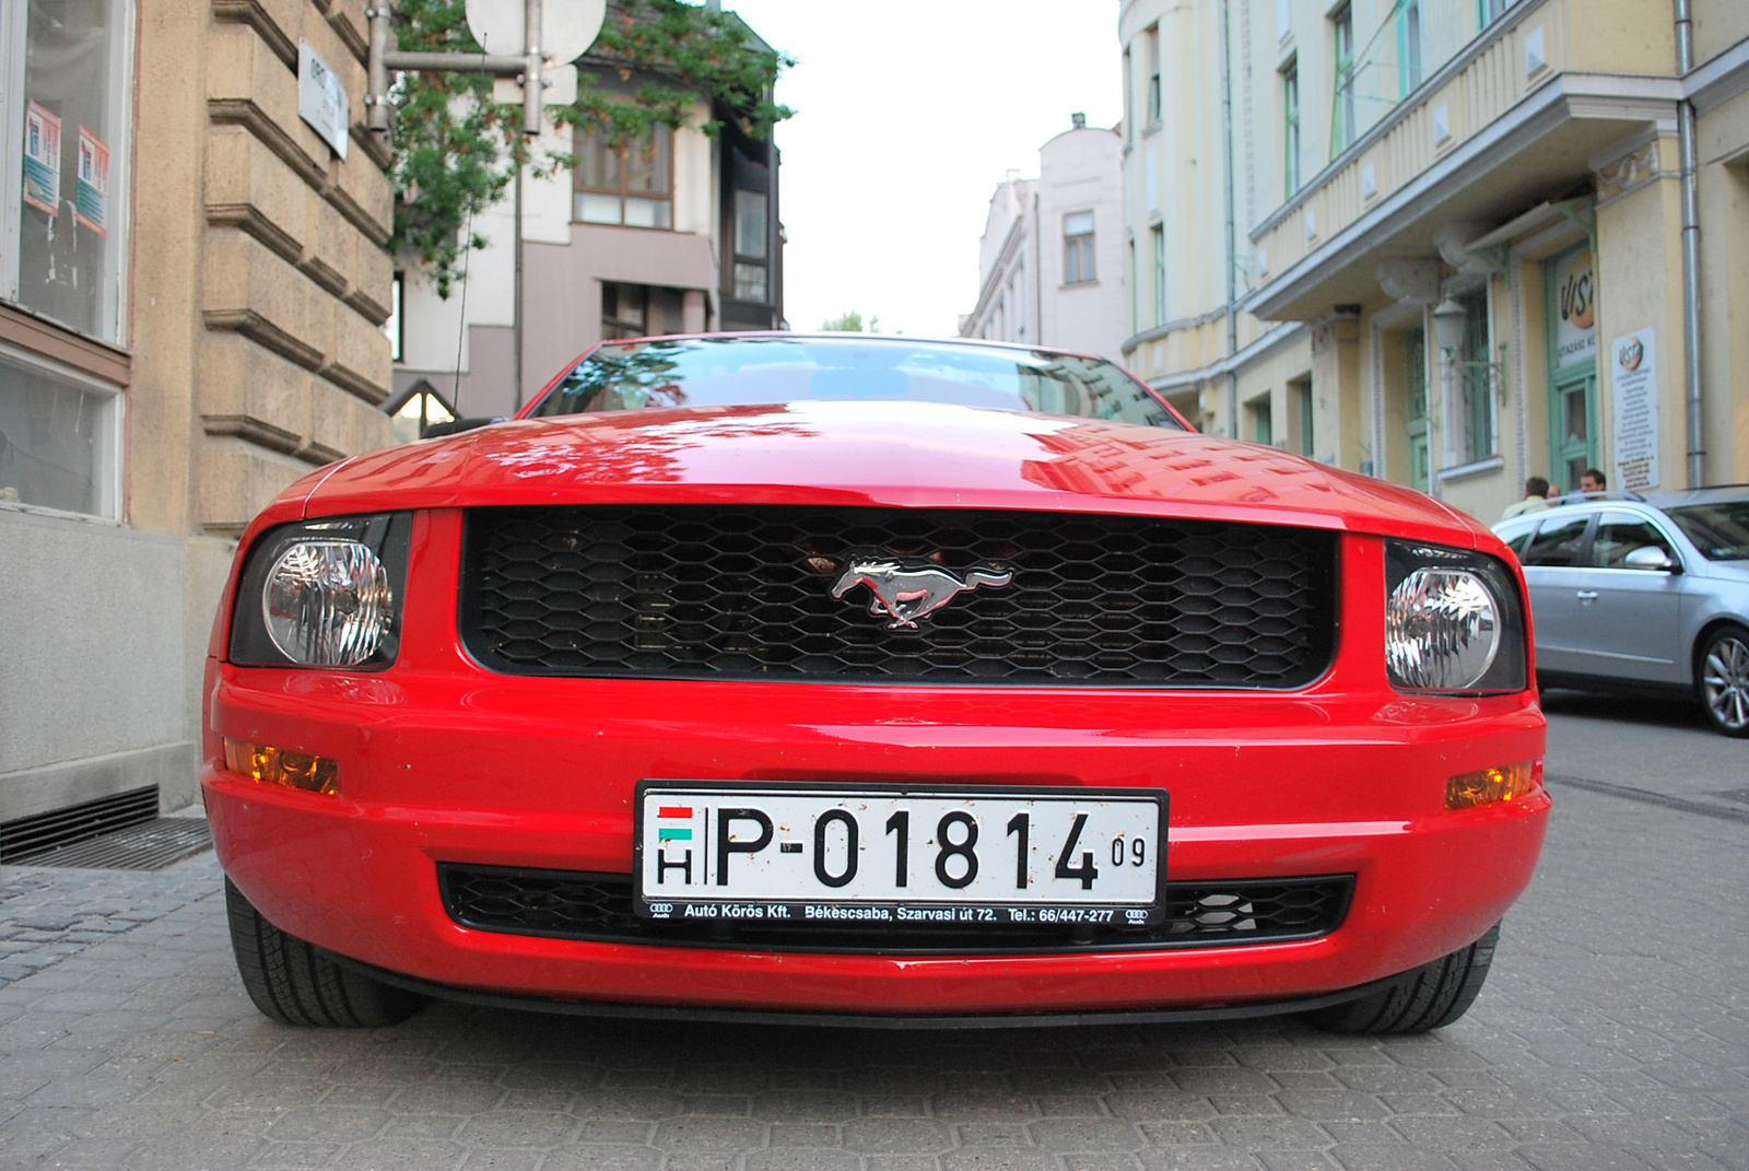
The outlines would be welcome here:
M 231 950 L 243 987 L 262 1015 L 282 1024 L 378 1027 L 399 1024 L 425 998 L 343 968 L 296 935 L 261 917 L 231 879 L 224 880 Z

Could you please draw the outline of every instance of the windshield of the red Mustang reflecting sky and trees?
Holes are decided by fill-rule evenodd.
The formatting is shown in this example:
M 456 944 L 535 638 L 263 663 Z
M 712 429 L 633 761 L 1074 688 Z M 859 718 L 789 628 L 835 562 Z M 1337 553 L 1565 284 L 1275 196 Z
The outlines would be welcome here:
M 1142 383 L 1097 357 L 902 338 L 609 343 L 577 362 L 530 413 L 822 399 L 951 403 L 1181 427 Z

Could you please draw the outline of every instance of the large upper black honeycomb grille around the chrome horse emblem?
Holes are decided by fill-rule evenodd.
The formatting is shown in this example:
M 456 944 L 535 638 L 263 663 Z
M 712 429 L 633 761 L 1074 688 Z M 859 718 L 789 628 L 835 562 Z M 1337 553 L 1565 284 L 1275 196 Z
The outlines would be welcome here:
M 892 630 L 868 586 L 831 593 L 857 550 L 1013 581 Z M 955 509 L 479 508 L 460 623 L 481 663 L 525 676 L 1286 690 L 1334 653 L 1336 536 Z

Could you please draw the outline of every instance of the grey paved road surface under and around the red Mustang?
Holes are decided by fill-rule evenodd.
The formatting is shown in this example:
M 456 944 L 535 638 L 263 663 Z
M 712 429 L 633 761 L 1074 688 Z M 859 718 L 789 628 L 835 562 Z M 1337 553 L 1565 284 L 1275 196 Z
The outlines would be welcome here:
M 299 1031 L 245 999 L 219 896 L 189 901 L 210 856 L 10 868 L 0 943 L 40 963 L 0 987 L 0 1167 L 1749 1169 L 1749 740 L 1683 705 L 1548 704 L 1550 845 L 1481 999 L 1438 1034 L 453 1005 Z

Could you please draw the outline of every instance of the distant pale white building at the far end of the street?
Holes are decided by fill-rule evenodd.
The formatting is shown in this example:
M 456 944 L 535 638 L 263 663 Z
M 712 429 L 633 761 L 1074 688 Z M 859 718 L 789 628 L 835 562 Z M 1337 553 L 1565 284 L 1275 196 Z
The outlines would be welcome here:
M 1123 140 L 1074 116 L 1039 149 L 1039 177 L 1009 172 L 978 245 L 978 306 L 960 336 L 1119 359 L 1125 340 Z

